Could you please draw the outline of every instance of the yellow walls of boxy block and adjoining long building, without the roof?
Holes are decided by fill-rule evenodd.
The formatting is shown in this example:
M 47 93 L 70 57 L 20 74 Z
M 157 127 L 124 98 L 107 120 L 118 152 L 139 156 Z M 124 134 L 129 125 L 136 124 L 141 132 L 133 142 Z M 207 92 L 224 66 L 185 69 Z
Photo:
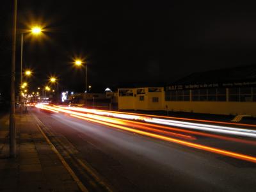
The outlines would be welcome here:
M 210 101 L 165 101 L 164 92 L 148 92 L 138 94 L 136 97 L 119 97 L 118 109 L 132 110 L 166 110 L 184 111 L 193 113 L 209 113 L 218 115 L 252 115 L 256 117 L 256 102 L 210 102 Z M 133 89 L 134 95 L 136 89 Z M 140 96 L 144 100 L 140 100 Z M 158 97 L 159 102 L 152 102 L 153 97 Z

